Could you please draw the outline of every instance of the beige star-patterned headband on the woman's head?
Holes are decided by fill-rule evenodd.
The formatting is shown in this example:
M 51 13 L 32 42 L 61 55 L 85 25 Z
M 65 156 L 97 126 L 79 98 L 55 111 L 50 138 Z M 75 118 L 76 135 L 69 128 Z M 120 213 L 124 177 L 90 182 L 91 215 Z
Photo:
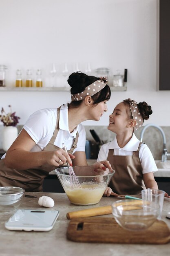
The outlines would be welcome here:
M 99 79 L 95 81 L 94 83 L 88 85 L 83 92 L 79 92 L 76 94 L 71 95 L 71 101 L 82 101 L 85 99 L 86 96 L 93 96 L 100 90 L 102 90 L 107 83 L 107 79 L 105 77 L 102 77 L 102 79 Z

